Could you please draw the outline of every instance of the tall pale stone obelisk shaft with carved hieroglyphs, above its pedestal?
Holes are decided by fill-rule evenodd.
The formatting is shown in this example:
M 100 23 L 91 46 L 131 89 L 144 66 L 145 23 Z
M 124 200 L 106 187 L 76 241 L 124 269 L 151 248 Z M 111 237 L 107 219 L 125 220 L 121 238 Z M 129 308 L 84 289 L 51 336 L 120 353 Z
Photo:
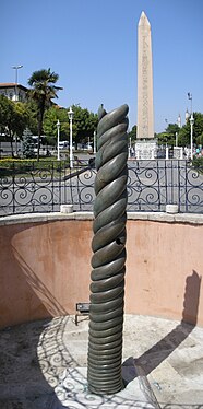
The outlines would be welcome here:
M 142 12 L 138 28 L 138 139 L 154 138 L 151 24 Z

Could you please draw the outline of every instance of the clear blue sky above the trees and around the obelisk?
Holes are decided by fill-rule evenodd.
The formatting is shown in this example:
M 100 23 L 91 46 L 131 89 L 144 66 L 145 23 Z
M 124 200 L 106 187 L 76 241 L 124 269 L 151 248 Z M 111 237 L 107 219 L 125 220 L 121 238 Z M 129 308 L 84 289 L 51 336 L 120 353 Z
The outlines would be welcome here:
M 203 0 L 1 0 L 0 82 L 27 85 L 35 70 L 59 74 L 58 104 L 96 113 L 129 105 L 136 124 L 138 22 L 152 27 L 155 131 L 190 109 L 203 113 Z

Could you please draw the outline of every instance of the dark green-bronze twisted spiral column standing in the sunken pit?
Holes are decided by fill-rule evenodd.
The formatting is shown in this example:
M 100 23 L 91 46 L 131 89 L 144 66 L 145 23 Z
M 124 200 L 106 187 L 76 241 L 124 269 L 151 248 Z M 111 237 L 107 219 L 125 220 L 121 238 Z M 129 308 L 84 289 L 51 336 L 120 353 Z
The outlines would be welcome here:
M 99 395 L 122 388 L 128 109 L 98 112 L 87 381 Z

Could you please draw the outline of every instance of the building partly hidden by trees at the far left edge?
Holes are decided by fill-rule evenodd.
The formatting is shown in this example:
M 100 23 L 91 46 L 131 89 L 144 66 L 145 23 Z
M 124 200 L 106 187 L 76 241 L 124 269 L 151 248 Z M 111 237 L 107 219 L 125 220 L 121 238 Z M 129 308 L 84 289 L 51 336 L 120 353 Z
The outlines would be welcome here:
M 0 83 L 0 95 L 5 95 L 11 101 L 25 102 L 28 89 L 16 83 Z

